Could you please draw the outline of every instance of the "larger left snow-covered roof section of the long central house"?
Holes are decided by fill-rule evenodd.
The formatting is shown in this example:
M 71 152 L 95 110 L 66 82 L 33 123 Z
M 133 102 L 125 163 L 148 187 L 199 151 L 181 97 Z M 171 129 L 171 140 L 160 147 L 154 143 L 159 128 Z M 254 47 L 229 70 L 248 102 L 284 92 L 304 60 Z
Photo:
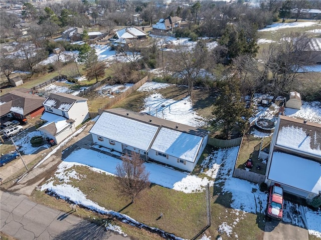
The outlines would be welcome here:
M 89 132 L 147 151 L 157 130 L 157 126 L 104 112 Z

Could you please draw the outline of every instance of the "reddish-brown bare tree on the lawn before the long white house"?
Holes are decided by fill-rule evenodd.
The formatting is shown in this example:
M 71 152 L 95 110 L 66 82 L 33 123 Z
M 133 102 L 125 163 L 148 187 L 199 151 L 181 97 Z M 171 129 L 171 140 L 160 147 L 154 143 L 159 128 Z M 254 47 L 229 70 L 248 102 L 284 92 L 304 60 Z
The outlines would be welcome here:
M 126 154 L 121 157 L 121 160 L 122 164 L 116 166 L 119 190 L 122 195 L 129 196 L 133 203 L 134 198 L 149 186 L 149 172 L 146 171 L 139 153 L 132 152 L 131 156 Z

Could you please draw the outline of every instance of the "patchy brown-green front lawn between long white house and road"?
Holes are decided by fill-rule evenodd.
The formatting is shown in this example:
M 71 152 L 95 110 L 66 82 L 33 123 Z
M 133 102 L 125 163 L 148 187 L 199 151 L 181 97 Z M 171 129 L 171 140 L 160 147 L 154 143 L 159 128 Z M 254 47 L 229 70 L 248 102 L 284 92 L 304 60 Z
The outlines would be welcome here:
M 97 202 L 106 209 L 120 211 L 139 222 L 161 228 L 187 239 L 196 236 L 207 225 L 205 192 L 187 194 L 151 184 L 148 189 L 140 193 L 140 196 L 135 199 L 134 203 L 128 205 L 130 200 L 119 195 L 117 181 L 113 176 L 93 172 L 85 166 L 74 166 L 72 169 L 75 169 L 83 177 L 81 177 L 81 180 L 70 179 L 72 180 L 71 184 L 86 194 L 88 199 Z M 55 179 L 55 184 L 60 184 L 59 179 Z M 210 191 L 214 192 L 214 188 L 212 187 Z M 205 233 L 212 237 L 219 235 L 218 228 L 222 222 L 233 225 L 235 219 L 238 218 L 235 213 L 236 211 L 230 208 L 231 195 L 219 193 L 216 189 L 210 200 L 212 225 Z M 69 204 L 64 200 L 56 199 L 44 192 L 35 191 L 32 197 L 35 197 L 34 200 L 36 199 L 41 204 L 49 204 L 63 211 L 69 210 Z M 157 220 L 161 212 L 164 213 L 164 216 Z M 91 219 L 93 217 L 100 219 L 106 217 L 82 208 L 78 209 L 77 214 L 84 218 L 90 217 Z M 240 213 L 240 215 L 244 219 L 234 224 L 236 226 L 233 228 L 238 238 L 262 239 L 263 233 L 260 229 L 262 219 L 257 224 L 257 219 L 260 216 L 250 213 Z M 116 221 L 114 224 L 121 225 L 123 231 L 130 236 L 133 234 L 131 233 L 130 226 L 121 224 L 119 221 Z M 140 233 L 137 233 L 137 230 L 133 231 L 136 232 L 135 234 L 142 234 L 144 236 L 139 236 L 137 239 L 158 239 L 144 231 L 138 231 Z M 237 239 L 237 237 L 231 236 L 231 239 Z

